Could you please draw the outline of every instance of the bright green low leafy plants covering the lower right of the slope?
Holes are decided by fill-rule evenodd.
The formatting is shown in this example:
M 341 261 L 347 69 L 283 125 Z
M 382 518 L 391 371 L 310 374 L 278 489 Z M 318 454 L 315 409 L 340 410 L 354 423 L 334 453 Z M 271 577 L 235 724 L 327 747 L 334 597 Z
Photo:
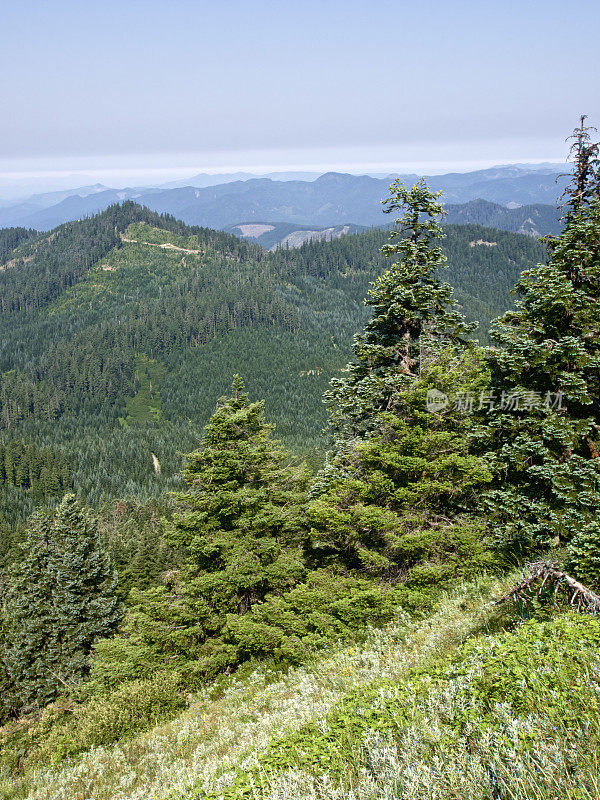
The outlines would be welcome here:
M 592 798 L 599 647 L 600 622 L 572 613 L 475 637 L 350 694 L 194 796 Z

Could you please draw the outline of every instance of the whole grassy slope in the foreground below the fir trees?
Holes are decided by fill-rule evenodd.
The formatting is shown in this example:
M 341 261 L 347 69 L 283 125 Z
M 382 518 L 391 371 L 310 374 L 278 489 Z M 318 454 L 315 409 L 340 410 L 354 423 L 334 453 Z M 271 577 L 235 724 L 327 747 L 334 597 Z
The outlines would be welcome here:
M 0 797 L 597 798 L 600 624 L 564 612 L 513 628 L 492 600 L 514 579 L 459 587 L 431 617 L 400 614 L 286 676 L 234 676 Z

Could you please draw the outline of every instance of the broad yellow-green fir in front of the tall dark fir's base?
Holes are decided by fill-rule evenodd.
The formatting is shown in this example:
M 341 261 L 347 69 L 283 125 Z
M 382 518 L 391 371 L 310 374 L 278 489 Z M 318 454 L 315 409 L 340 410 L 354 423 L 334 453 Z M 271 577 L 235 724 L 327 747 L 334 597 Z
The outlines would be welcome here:
M 404 605 L 423 608 L 444 587 L 491 566 L 479 496 L 490 480 L 472 452 L 472 415 L 487 375 L 477 351 L 437 353 L 420 378 L 342 445 L 312 489 L 311 544 L 320 563 L 401 584 Z M 456 397 L 440 412 L 428 395 Z

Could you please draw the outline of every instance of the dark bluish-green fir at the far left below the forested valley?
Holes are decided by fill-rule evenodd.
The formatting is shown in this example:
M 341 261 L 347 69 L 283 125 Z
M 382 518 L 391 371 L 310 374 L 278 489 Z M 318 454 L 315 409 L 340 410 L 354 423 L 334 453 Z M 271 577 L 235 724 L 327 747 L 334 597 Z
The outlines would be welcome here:
M 89 670 L 94 641 L 121 619 L 116 574 L 73 494 L 34 516 L 3 604 L 2 660 L 13 705 L 44 705 Z

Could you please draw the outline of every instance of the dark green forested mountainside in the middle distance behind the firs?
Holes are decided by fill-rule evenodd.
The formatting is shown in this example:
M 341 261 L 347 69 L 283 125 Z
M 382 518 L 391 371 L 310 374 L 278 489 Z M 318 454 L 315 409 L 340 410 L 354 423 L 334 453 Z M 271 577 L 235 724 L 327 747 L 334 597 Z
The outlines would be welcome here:
M 478 226 L 446 233 L 448 278 L 485 331 L 545 248 Z M 49 235 L 2 232 L 4 515 L 70 485 L 93 503 L 172 487 L 235 372 L 288 446 L 322 448 L 321 395 L 364 323 L 387 236 L 267 253 L 133 203 Z

